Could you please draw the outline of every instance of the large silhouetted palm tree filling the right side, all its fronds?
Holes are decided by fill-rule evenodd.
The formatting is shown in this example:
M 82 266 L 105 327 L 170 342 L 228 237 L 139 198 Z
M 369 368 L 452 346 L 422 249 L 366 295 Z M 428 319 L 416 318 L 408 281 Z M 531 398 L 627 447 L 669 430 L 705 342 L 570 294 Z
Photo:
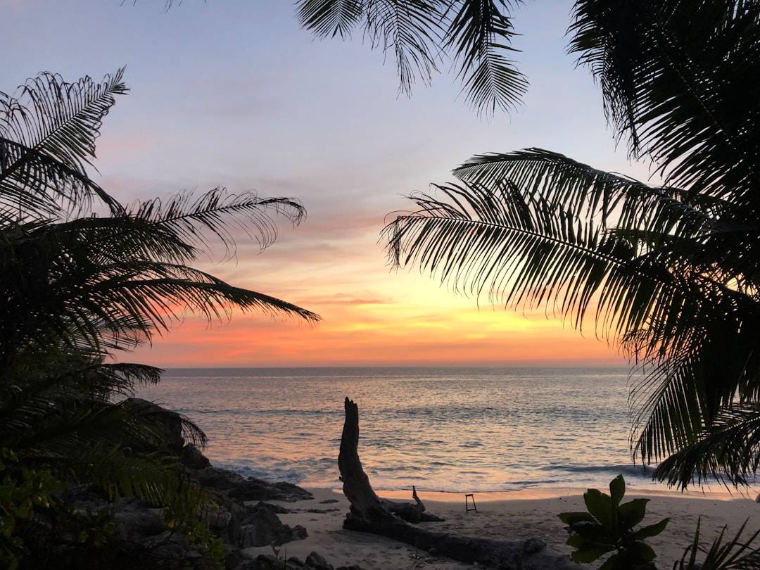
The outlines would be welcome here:
M 622 347 L 632 450 L 685 488 L 760 461 L 760 3 L 578 0 L 570 51 L 663 184 L 547 150 L 473 157 L 385 229 L 391 262 Z

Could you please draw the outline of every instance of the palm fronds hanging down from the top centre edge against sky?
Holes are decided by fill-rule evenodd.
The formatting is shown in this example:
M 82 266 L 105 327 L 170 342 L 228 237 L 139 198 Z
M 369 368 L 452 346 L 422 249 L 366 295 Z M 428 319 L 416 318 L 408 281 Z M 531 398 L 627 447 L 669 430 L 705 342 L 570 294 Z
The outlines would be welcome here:
M 515 36 L 509 11 L 519 2 L 439 0 L 299 0 L 302 27 L 319 37 L 350 36 L 364 22 L 372 49 L 393 50 L 401 93 L 420 79 L 429 84 L 452 59 L 467 104 L 492 115 L 521 101 L 527 79 L 508 57 Z

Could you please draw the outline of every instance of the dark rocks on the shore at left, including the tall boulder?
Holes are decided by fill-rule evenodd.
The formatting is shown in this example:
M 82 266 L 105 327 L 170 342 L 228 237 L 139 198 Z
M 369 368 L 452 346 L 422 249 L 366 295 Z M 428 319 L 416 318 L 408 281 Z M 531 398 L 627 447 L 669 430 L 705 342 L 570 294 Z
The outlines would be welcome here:
M 156 404 L 153 404 L 154 406 Z M 157 407 L 157 406 L 156 406 Z M 157 407 L 159 408 L 159 407 Z M 202 523 L 195 532 L 207 536 L 205 543 L 189 540 L 188 533 L 166 524 L 166 509 L 157 508 L 148 502 L 125 497 L 109 502 L 102 493 L 87 486 L 74 486 L 60 496 L 72 512 L 86 514 L 93 518 L 110 518 L 106 524 L 107 536 L 103 536 L 100 547 L 109 549 L 109 557 L 122 567 L 131 567 L 134 560 L 141 568 L 182 568 L 182 570 L 211 570 L 217 568 L 223 559 L 225 570 L 267 570 L 268 568 L 300 568 L 311 570 L 339 570 L 328 564 L 318 553 L 311 553 L 305 560 L 283 560 L 279 547 L 293 540 L 308 536 L 308 530 L 301 525 L 290 527 L 283 524 L 277 515 L 289 512 L 282 502 L 292 503 L 313 499 L 312 493 L 292 483 L 270 483 L 268 481 L 242 477 L 239 473 L 214 467 L 201 451 L 182 435 L 182 418 L 179 414 L 162 410 L 166 429 L 165 447 L 159 450 L 140 450 L 168 457 L 179 458 L 185 480 L 195 483 L 206 498 L 206 506 L 195 515 L 195 523 Z M 272 501 L 280 505 L 271 504 Z M 66 542 L 65 530 L 58 521 L 46 521 L 50 536 L 59 542 Z M 209 535 L 210 533 L 210 535 Z M 63 540 L 62 540 L 63 537 Z M 71 542 L 76 542 L 71 537 Z M 96 537 L 97 538 L 97 537 Z M 223 552 L 209 556 L 209 544 Z M 243 550 L 252 546 L 271 546 L 271 555 L 251 557 Z M 211 559 L 215 562 L 211 562 Z M 359 566 L 342 566 L 340 570 L 360 570 Z

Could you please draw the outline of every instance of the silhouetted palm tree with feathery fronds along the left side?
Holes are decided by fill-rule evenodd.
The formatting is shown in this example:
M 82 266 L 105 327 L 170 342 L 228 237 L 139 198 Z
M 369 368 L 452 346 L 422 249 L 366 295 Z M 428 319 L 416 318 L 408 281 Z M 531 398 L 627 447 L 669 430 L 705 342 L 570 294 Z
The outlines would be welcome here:
M 18 97 L 0 93 L 0 448 L 14 458 L 2 468 L 17 465 L 17 482 L 51 470 L 111 498 L 181 511 L 201 495 L 176 461 L 141 452 L 166 450 L 170 414 L 131 397 L 161 370 L 118 363 L 117 351 L 150 342 L 187 312 L 319 317 L 190 266 L 214 239 L 234 255 L 233 233 L 267 247 L 274 214 L 302 219 L 298 201 L 216 188 L 125 207 L 90 179 L 101 121 L 127 91 L 122 73 L 100 84 L 40 74 Z M 179 422 L 186 439 L 204 443 L 192 421 Z

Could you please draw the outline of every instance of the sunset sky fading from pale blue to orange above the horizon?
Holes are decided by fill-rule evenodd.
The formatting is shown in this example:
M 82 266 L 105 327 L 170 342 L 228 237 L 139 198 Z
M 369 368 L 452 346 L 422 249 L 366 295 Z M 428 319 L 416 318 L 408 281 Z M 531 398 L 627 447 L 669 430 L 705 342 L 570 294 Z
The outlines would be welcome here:
M 486 120 L 453 75 L 398 95 L 391 55 L 360 33 L 317 40 L 291 2 L 0 0 L 10 46 L 0 90 L 40 71 L 67 81 L 126 66 L 130 93 L 103 122 L 93 178 L 125 203 L 180 191 L 255 190 L 299 198 L 308 215 L 259 252 L 211 252 L 197 267 L 321 315 L 309 326 L 269 315 L 209 325 L 185 315 L 150 347 L 119 359 L 185 366 L 620 365 L 615 347 L 542 312 L 525 314 L 394 270 L 380 233 L 405 196 L 450 182 L 474 154 L 542 147 L 647 179 L 606 125 L 599 87 L 565 54 L 572 2 L 515 12 L 518 67 L 530 90 Z

